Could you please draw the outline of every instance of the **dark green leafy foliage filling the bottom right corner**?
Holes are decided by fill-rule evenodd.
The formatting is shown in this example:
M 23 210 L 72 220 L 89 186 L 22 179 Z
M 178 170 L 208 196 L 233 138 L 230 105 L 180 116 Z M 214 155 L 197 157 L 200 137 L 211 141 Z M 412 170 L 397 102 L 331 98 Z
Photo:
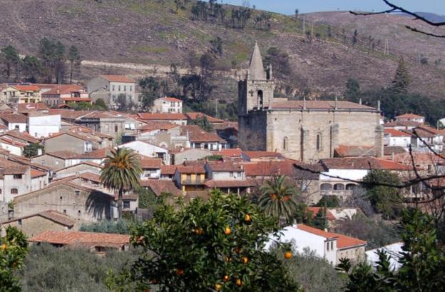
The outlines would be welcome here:
M 349 275 L 347 291 L 444 291 L 445 254 L 437 244 L 433 218 L 419 210 L 405 211 L 400 228 L 404 247 L 399 271 L 391 268 L 383 251 L 375 270 L 367 263 L 352 267 L 342 260 L 339 268 Z

